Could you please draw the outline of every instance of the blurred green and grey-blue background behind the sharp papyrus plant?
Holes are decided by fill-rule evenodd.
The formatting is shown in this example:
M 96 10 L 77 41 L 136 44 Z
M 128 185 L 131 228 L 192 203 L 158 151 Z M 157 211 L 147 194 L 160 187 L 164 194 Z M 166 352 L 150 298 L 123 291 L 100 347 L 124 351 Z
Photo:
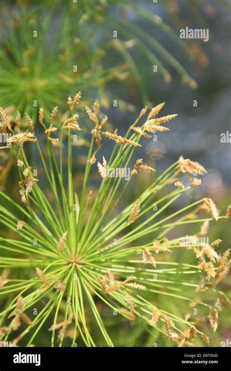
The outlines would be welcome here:
M 109 117 L 107 129 L 113 124 L 123 135 L 144 105 L 166 102 L 161 114 L 178 114 L 168 124 L 171 130 L 158 133 L 157 141 L 147 140 L 136 156 L 157 173 L 181 155 L 199 162 L 208 171 L 202 186 L 193 196 L 181 197 L 173 210 L 192 197 L 206 196 L 224 212 L 231 201 L 230 1 L 2 0 L 0 14 L 0 106 L 13 125 L 17 111 L 26 111 L 38 124 L 39 107 L 49 120 L 56 105 L 62 122 L 68 96 L 81 90 L 81 127 L 86 123 L 89 131 L 84 106 L 98 97 Z M 209 41 L 180 39 L 185 27 L 209 29 Z M 227 134 L 226 143 L 221 142 L 222 133 Z M 82 142 L 85 163 L 88 143 Z M 37 154 L 28 151 L 37 161 Z M 110 148 L 105 147 L 105 157 L 107 153 Z M 76 159 L 81 169 L 78 164 Z M 18 197 L 16 179 L 12 159 L 0 151 L 0 188 Z M 139 174 L 126 202 L 149 181 Z M 94 175 L 92 184 L 97 186 Z M 227 221 L 211 233 L 213 239 L 222 235 L 224 250 L 229 247 Z M 228 315 L 225 309 L 213 345 L 230 337 Z

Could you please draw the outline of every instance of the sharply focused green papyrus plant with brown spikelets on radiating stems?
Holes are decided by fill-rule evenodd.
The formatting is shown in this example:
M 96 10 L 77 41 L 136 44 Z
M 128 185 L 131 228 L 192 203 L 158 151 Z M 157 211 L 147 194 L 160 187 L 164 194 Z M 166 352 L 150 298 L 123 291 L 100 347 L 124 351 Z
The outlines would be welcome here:
M 169 130 L 163 124 L 176 115 L 156 118 L 163 104 L 152 108 L 146 120 L 145 107 L 124 137 L 104 131 L 107 117 L 99 120 L 97 100 L 93 110 L 86 107 L 92 139 L 78 191 L 72 162 L 77 151 L 73 140 L 83 127 L 76 111 L 80 96 L 79 92 L 68 98 L 70 116 L 61 130 L 56 127 L 56 111 L 47 123 L 40 109 L 46 150 L 40 148 L 27 114 L 28 130 L 15 133 L 1 109 L 2 131 L 12 134 L 2 150 L 12 151 L 17 160 L 21 201 L 0 192 L 1 200 L 9 203 L 8 208 L 0 206 L 0 222 L 6 228 L 0 237 L 0 340 L 12 341 L 12 346 L 38 345 L 41 330 L 51 346 L 61 346 L 64 338 L 69 346 L 114 346 L 116 336 L 109 335 L 102 314 L 106 307 L 115 326 L 122 326 L 125 318 L 133 322 L 133 329 L 141 329 L 140 334 L 146 330 L 154 342 L 162 335 L 178 346 L 194 346 L 202 340 L 209 344 L 200 326 L 208 320 L 215 331 L 222 301 L 230 304 L 216 288 L 228 272 L 229 250 L 219 254 L 220 239 L 211 244 L 192 241 L 207 233 L 209 221 L 228 217 L 231 208 L 227 216 L 219 216 L 211 199 L 200 199 L 173 212 L 173 202 L 200 185 L 197 176 L 206 172 L 204 167 L 180 158 L 154 178 L 152 164 L 134 160 L 136 147 L 150 133 Z M 40 180 L 25 153 L 28 141 L 38 148 L 44 169 Z M 106 156 L 110 146 L 111 154 Z M 128 167 L 129 180 L 111 177 L 109 169 Z M 101 181 L 97 190 L 91 183 L 94 168 Z M 125 206 L 137 172 L 144 177 L 152 173 L 153 181 Z M 182 174 L 190 180 L 189 186 L 182 183 Z M 170 193 L 163 193 L 165 187 Z M 198 216 L 201 212 L 206 216 Z M 198 233 L 190 233 L 189 228 L 191 242 L 182 244 L 180 227 L 195 223 L 200 226 Z M 170 239 L 173 228 L 178 237 Z M 176 250 L 183 256 L 180 262 L 174 259 Z M 193 301 L 204 316 L 189 317 L 188 308 L 186 317 L 166 311 L 166 298 L 174 305 Z

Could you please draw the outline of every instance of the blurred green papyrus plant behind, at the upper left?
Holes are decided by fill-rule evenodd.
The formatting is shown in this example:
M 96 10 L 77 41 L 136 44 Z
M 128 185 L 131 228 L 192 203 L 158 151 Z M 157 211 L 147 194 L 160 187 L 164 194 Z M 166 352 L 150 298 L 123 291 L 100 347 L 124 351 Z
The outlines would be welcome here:
M 110 94 L 105 91 L 107 82 L 125 80 L 128 76 L 136 82 L 146 104 L 149 97 L 131 54 L 134 48 L 149 63 L 150 73 L 156 65 L 158 73 L 169 82 L 169 69 L 174 68 L 183 82 L 195 87 L 184 67 L 161 43 L 135 22 L 127 21 L 126 16 L 114 16 L 114 11 L 117 13 L 119 9 L 134 11 L 138 19 L 160 28 L 189 52 L 185 42 L 160 17 L 131 1 L 19 1 L 11 8 L 3 1 L 0 105 L 5 108 L 15 105 L 16 110 L 28 112 L 33 120 L 42 106 L 48 118 L 54 105 L 62 108 L 64 98 L 78 86 L 86 91 L 85 99 L 97 90 L 102 104 L 109 107 L 113 98 L 109 99 Z M 122 59 L 108 65 L 107 56 L 115 51 Z

